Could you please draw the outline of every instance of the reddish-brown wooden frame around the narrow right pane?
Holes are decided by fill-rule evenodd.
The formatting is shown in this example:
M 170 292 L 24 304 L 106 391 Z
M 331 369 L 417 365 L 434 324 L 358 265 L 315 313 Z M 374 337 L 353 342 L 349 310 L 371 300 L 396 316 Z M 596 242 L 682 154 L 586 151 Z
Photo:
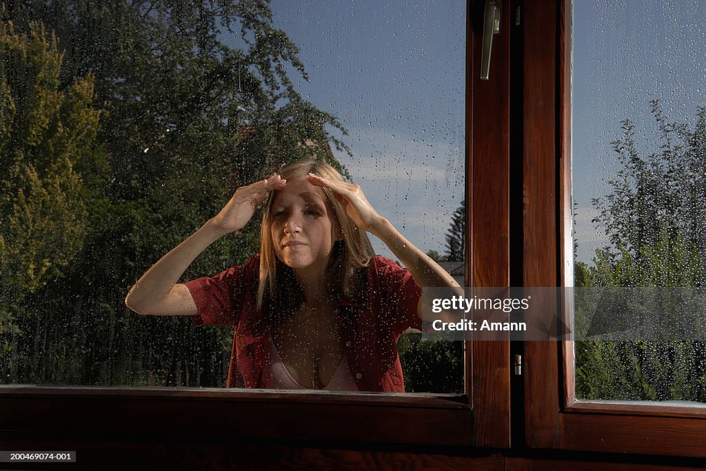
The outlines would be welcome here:
M 523 13 L 523 278 L 571 286 L 571 0 L 525 2 Z M 706 458 L 706 407 L 577 400 L 573 342 L 524 352 L 530 448 Z

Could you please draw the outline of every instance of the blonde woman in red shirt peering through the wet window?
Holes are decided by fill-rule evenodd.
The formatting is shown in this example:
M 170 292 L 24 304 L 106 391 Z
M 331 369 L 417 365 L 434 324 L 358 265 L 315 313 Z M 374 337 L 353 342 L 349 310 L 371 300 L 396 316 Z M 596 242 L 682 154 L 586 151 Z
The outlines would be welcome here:
M 264 200 L 261 254 L 213 278 L 178 283 L 198 254 L 242 229 Z M 407 270 L 374 256 L 366 232 Z M 140 314 L 236 326 L 227 387 L 404 392 L 397 338 L 421 329 L 420 285 L 458 287 L 358 185 L 306 160 L 239 188 L 125 302 Z

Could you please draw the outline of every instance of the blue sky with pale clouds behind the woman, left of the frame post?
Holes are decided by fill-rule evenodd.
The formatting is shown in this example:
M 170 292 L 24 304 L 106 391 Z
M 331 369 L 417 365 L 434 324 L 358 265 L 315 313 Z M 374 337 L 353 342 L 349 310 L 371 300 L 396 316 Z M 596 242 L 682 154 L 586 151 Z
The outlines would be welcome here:
M 464 196 L 465 1 L 273 0 L 271 8 L 309 75 L 290 69 L 297 91 L 349 132 L 352 155 L 334 150 L 337 159 L 407 239 L 443 253 Z M 371 239 L 376 253 L 395 258 Z

